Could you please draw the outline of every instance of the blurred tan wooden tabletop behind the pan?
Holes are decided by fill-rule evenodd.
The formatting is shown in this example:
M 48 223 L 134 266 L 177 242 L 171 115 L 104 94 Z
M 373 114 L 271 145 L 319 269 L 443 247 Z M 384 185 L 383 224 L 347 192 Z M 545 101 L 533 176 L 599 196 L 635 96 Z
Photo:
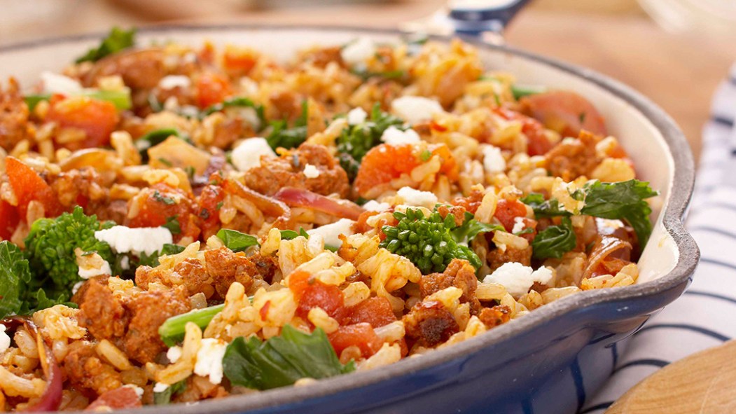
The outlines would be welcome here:
M 609 9 L 612 1 L 604 2 Z M 402 21 L 429 15 L 445 1 L 316 0 L 310 6 L 304 3 L 180 0 L 177 7 L 170 7 L 171 0 L 69 0 L 69 4 L 77 4 L 75 10 L 32 33 L 64 35 L 105 30 L 113 24 L 146 25 L 160 21 L 396 27 Z M 533 2 L 506 32 L 509 44 L 590 67 L 631 85 L 673 116 L 697 156 L 713 91 L 736 60 L 732 46 L 736 39 L 726 35 L 672 34 L 640 12 L 571 11 L 565 3 L 570 1 Z M 289 7 L 283 7 L 285 4 Z M 21 25 L 10 35 L 4 34 L 0 43 L 28 38 L 31 32 L 27 27 Z

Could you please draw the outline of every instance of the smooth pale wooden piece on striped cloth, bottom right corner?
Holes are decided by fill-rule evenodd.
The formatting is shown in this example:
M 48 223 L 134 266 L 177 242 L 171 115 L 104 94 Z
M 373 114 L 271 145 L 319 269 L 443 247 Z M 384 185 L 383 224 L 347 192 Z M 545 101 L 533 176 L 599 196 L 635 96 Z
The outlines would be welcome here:
M 667 365 L 606 414 L 736 413 L 736 340 Z

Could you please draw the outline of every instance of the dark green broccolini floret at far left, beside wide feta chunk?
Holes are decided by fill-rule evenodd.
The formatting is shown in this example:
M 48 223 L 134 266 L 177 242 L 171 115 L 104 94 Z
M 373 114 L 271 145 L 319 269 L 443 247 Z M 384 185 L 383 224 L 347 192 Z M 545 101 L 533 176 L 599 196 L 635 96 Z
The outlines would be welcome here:
M 95 239 L 94 232 L 113 225 L 113 222 L 101 223 L 96 216 L 85 215 L 79 206 L 55 219 L 36 220 L 26 237 L 26 256 L 37 276 L 35 282 L 54 296 L 71 292 L 74 284 L 82 280 L 75 248 L 98 253 L 112 263 L 114 255 L 110 245 Z

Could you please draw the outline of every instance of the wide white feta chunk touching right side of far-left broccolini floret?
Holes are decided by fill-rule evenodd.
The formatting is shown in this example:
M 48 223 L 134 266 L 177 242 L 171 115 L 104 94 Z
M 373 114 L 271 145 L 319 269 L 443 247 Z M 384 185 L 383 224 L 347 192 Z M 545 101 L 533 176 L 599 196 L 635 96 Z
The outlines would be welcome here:
M 94 232 L 95 239 L 106 242 L 117 253 L 133 253 L 140 256 L 161 250 L 163 245 L 174 242 L 171 231 L 163 227 L 130 228 L 115 225 L 111 228 Z

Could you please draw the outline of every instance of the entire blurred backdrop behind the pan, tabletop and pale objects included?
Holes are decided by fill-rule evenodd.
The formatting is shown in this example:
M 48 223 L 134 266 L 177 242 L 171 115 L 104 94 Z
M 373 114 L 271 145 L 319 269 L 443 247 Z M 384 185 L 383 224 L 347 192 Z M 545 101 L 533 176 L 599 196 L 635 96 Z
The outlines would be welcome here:
M 0 0 L 0 46 L 160 23 L 397 27 L 444 0 Z M 647 95 L 696 152 L 716 85 L 736 60 L 733 0 L 534 0 L 512 46 L 601 71 Z

